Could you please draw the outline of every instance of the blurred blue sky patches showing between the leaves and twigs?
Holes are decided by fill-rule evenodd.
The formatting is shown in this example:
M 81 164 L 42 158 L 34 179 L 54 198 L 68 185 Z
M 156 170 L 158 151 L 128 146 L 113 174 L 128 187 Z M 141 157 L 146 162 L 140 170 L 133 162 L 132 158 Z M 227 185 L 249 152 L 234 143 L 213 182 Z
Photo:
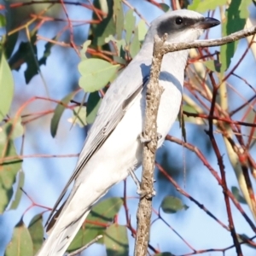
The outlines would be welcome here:
M 131 5 L 136 7 L 146 18 L 146 20 L 154 20 L 161 11 L 149 3 L 143 2 L 143 7 L 138 1 L 130 1 Z M 76 19 L 84 19 L 90 17 L 89 11 L 80 11 L 76 6 L 70 7 L 68 9 L 70 17 L 76 17 Z M 89 15 L 89 16 L 88 16 Z M 218 19 L 218 12 L 216 15 Z M 45 29 L 41 33 L 45 37 L 51 38 L 55 35 L 55 30 Z M 83 38 L 86 38 L 86 30 L 88 27 L 83 27 L 83 29 L 78 29 L 76 33 L 84 33 L 83 36 L 79 37 L 79 44 L 83 43 Z M 220 36 L 220 26 L 214 27 L 209 33 L 209 38 L 218 38 Z M 24 35 L 20 35 L 20 39 L 24 39 Z M 45 42 L 41 41 L 38 44 L 38 55 L 42 55 L 44 52 Z M 241 40 L 239 43 L 239 49 L 233 58 L 232 63 L 236 63 L 241 57 L 243 49 L 246 47 L 246 40 Z M 67 93 L 72 90 L 73 86 L 78 86 L 77 81 L 79 79 L 79 73 L 77 70 L 77 65 L 79 64 L 79 58 L 77 56 L 73 57 L 73 49 L 62 49 L 59 46 L 55 46 L 52 49 L 52 53 L 49 56 L 47 65 L 41 68 L 44 79 L 46 80 L 47 88 L 49 90 L 49 96 L 55 99 L 61 99 L 67 95 Z M 247 73 L 247 81 L 251 84 L 255 84 L 253 72 L 247 72 L 248 67 L 253 71 L 255 68 L 255 60 L 252 54 L 248 54 L 246 64 L 241 65 L 237 68 L 237 73 L 243 75 Z M 231 64 L 232 66 L 233 64 Z M 72 68 L 71 68 L 72 67 Z M 12 113 L 19 108 L 20 102 L 22 100 L 28 99 L 34 95 L 37 96 L 47 96 L 42 78 L 38 75 L 34 77 L 30 84 L 26 85 L 24 79 L 24 71 L 26 66 L 23 65 L 19 72 L 13 72 L 15 78 L 15 101 L 12 107 Z M 230 84 L 236 84 L 238 90 L 243 90 L 243 95 L 249 97 L 251 90 L 241 84 L 240 80 L 236 78 L 231 78 L 229 80 Z M 22 97 L 20 97 L 22 95 Z M 236 96 L 234 96 L 236 99 Z M 49 102 L 34 102 L 27 109 L 27 113 L 41 111 L 42 109 L 53 108 Z M 232 106 L 230 106 L 232 109 Z M 57 132 L 55 138 L 50 136 L 49 124 L 51 116 L 46 116 L 43 119 L 38 119 L 35 122 L 30 123 L 26 127 L 26 143 L 24 147 L 24 154 L 78 154 L 80 149 L 84 144 L 84 137 L 86 131 L 84 131 L 79 126 L 75 125 L 71 129 L 70 123 L 67 122 L 72 116 L 71 111 L 65 111 L 61 118 L 61 126 Z M 207 154 L 207 148 L 203 145 L 204 139 L 207 139 L 204 129 L 207 126 L 201 127 L 200 129 L 193 124 L 186 125 L 186 132 L 188 135 L 188 141 L 190 143 L 195 143 L 196 146 L 202 148 L 203 152 Z M 170 134 L 175 137 L 181 137 L 181 131 L 179 125 L 176 122 L 173 125 Z M 216 139 L 219 145 L 222 145 L 222 137 L 216 134 Z M 198 142 L 198 143 L 196 143 Z M 20 148 L 20 140 L 17 140 L 16 147 Z M 237 186 L 236 176 L 230 167 L 227 154 L 225 154 L 225 148 L 220 148 L 221 154 L 224 157 L 225 171 L 227 175 L 227 180 L 229 188 L 231 186 Z M 188 177 L 183 180 L 183 175 L 179 177 L 180 185 L 185 189 L 190 195 L 193 195 L 196 200 L 200 201 L 205 207 L 207 207 L 211 212 L 213 212 L 220 220 L 225 224 L 228 224 L 228 219 L 225 211 L 224 196 L 221 187 L 218 185 L 216 180 L 207 171 L 207 168 L 201 164 L 201 162 L 196 158 L 195 154 L 187 152 L 185 149 L 177 146 L 174 143 L 165 143 L 165 145 L 160 148 L 158 152 L 158 158 L 161 159 L 162 154 L 166 151 L 171 152 L 172 159 L 170 161 L 177 166 L 183 172 L 184 162 L 189 168 Z M 253 154 L 255 155 L 255 149 L 253 149 Z M 24 189 L 28 195 L 31 195 L 33 200 L 38 204 L 52 207 L 60 195 L 61 190 L 65 186 L 67 179 L 73 172 L 73 168 L 76 164 L 77 158 L 30 158 L 23 162 L 23 170 L 26 173 L 26 180 Z M 215 170 L 218 170 L 218 163 L 214 154 L 207 154 L 207 160 L 211 163 Z M 141 170 L 138 170 L 138 177 L 140 177 Z M 122 196 L 123 195 L 124 183 L 119 183 L 110 189 L 109 196 Z M 170 188 L 170 183 L 156 183 L 155 189 L 157 195 L 154 198 L 154 209 L 159 208 L 160 201 L 166 195 L 166 192 L 174 193 L 173 189 Z M 131 197 L 129 200 L 129 209 L 131 212 L 131 223 L 133 226 L 136 225 L 136 211 L 137 211 L 137 197 L 136 186 L 128 177 L 127 180 L 127 195 Z M 163 189 L 164 188 L 164 189 Z M 176 193 L 176 192 L 175 192 Z M 177 195 L 177 194 L 175 194 Z M 218 225 L 212 218 L 207 216 L 206 212 L 201 211 L 195 206 L 191 201 L 183 198 L 183 203 L 189 206 L 186 211 L 178 212 L 177 214 L 166 214 L 162 212 L 163 218 L 166 219 L 168 224 L 172 225 L 174 230 L 183 236 L 186 241 L 189 241 L 196 249 L 206 249 L 206 248 L 222 248 L 230 246 L 233 242 L 230 233 L 225 231 L 220 225 Z M 11 237 L 11 231 L 14 225 L 18 222 L 23 212 L 29 207 L 31 202 L 28 200 L 26 195 L 22 196 L 20 206 L 15 211 L 8 211 L 0 217 L 0 255 L 4 252 L 3 244 L 7 244 Z M 241 217 L 241 213 L 232 206 L 232 213 L 235 219 L 236 231 L 240 234 L 246 234 L 247 236 L 253 236 L 252 230 L 249 229 L 244 218 Z M 243 205 L 243 208 L 247 214 L 251 217 L 251 213 L 247 206 Z M 39 207 L 34 207 L 24 216 L 24 221 L 26 224 L 30 222 L 32 217 L 38 212 L 42 212 Z M 125 224 L 124 209 L 121 209 L 119 214 L 119 224 Z M 47 218 L 47 213 L 44 215 L 44 221 Z M 153 215 L 153 219 L 155 215 Z M 4 231 L 1 231 L 4 230 Z M 128 237 L 131 239 L 131 234 L 128 231 Z M 132 239 L 131 239 L 132 241 Z M 160 221 L 157 221 L 152 225 L 150 242 L 154 247 L 159 247 L 162 252 L 170 251 L 175 254 L 189 253 L 189 247 L 180 240 L 180 238 L 175 235 L 175 233 Z M 130 247 L 130 255 L 133 252 L 132 243 Z M 253 250 L 247 246 L 242 246 L 244 255 L 253 255 Z M 83 255 L 105 255 L 104 247 L 101 245 L 93 245 Z M 229 250 L 225 255 L 235 255 L 234 250 Z M 222 255 L 222 253 L 205 253 L 203 255 Z

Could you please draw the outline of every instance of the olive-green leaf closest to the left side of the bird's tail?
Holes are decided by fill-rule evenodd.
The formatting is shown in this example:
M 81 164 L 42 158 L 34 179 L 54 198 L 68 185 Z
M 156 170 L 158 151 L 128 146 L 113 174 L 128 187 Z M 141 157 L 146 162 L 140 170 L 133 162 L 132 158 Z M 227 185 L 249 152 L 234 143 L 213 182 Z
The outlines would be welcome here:
M 32 218 L 28 225 L 28 231 L 32 237 L 33 255 L 35 255 L 44 241 L 44 226 L 42 214 L 36 215 Z

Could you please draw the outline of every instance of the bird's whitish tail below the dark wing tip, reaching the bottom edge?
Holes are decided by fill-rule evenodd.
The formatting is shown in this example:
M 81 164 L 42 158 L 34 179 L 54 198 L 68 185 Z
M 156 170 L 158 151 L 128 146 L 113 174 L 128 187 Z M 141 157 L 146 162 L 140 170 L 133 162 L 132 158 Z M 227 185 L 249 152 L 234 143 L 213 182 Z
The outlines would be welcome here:
M 65 209 L 66 211 L 67 208 Z M 58 218 L 54 228 L 50 231 L 48 239 L 44 241 L 43 246 L 37 253 L 37 256 L 63 256 L 90 212 L 90 209 L 86 210 L 81 216 L 78 216 L 73 223 L 68 226 L 63 226 L 63 223 L 66 223 L 66 219 L 63 218 L 68 218 L 65 210 L 61 212 L 64 214 L 61 214 Z

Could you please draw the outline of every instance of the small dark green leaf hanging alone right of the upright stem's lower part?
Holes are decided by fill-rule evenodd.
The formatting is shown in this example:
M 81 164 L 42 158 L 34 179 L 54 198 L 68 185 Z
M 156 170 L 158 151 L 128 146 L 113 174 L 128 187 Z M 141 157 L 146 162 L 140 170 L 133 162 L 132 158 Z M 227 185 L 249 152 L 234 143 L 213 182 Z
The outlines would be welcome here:
M 182 209 L 187 210 L 189 207 L 186 205 L 183 205 L 183 202 L 174 196 L 167 195 L 164 200 L 161 202 L 160 207 L 163 209 L 166 213 L 176 213 L 178 211 L 181 211 Z

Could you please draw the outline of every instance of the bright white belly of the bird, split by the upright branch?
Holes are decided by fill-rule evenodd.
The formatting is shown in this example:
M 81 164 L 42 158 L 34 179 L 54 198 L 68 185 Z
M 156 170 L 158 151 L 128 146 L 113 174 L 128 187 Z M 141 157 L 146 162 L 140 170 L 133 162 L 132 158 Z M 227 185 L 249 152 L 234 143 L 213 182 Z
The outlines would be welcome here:
M 164 77 L 166 79 L 166 77 Z M 165 88 L 160 101 L 157 118 L 158 133 L 162 135 L 158 147 L 164 142 L 173 122 L 177 118 L 182 98 L 181 88 L 161 81 Z M 108 137 L 102 148 L 94 154 L 81 172 L 79 181 L 90 183 L 101 176 L 101 188 L 108 189 L 113 183 L 118 183 L 128 176 L 128 170 L 140 166 L 143 160 L 143 145 L 138 138 L 143 131 L 145 111 L 145 90 L 126 111 L 119 125 Z M 90 181 L 89 181 L 90 180 Z M 102 182 L 104 184 L 102 184 Z M 95 184 L 95 183 L 94 183 Z M 95 184 L 97 187 L 97 184 Z

